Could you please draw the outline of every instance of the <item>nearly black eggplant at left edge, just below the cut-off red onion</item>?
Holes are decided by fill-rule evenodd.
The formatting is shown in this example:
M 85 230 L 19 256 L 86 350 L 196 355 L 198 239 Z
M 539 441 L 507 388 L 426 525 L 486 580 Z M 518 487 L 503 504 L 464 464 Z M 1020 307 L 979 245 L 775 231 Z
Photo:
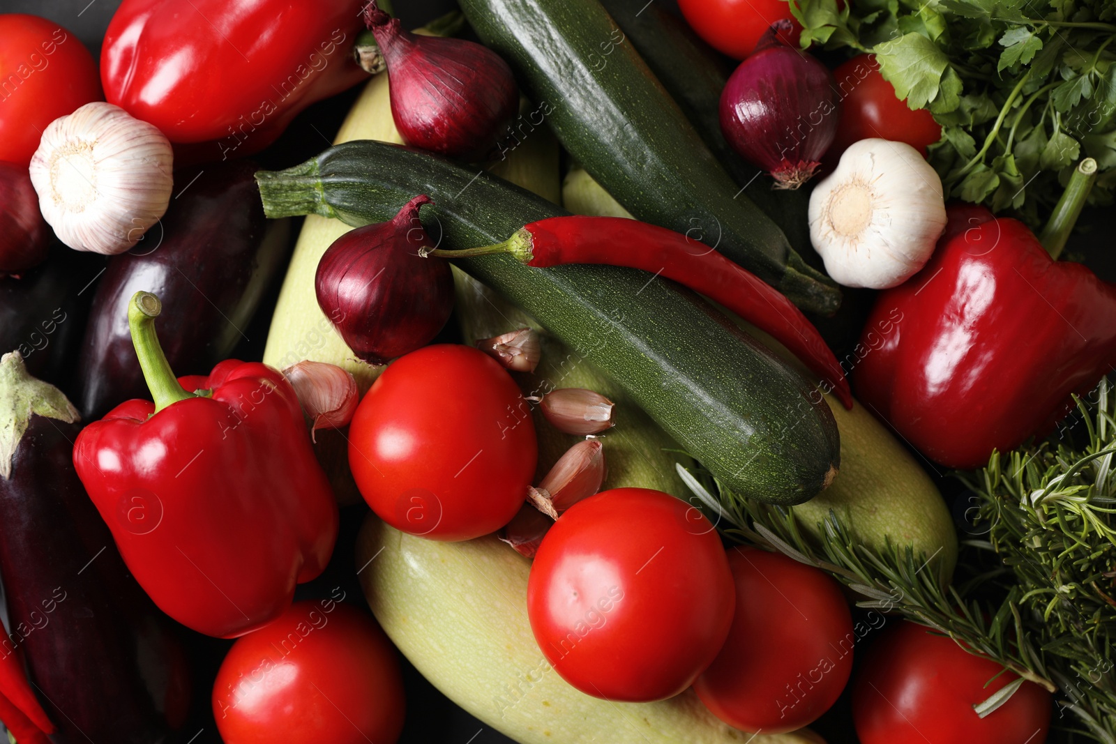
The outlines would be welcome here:
M 105 259 L 51 241 L 45 262 L 0 277 L 0 354 L 19 351 L 32 375 L 67 387 Z

